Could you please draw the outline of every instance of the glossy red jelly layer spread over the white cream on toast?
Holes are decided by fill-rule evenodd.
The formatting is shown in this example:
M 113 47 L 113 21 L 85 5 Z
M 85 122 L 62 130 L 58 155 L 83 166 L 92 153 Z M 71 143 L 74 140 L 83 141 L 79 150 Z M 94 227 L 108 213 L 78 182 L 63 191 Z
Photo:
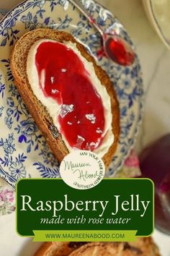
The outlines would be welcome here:
M 45 97 L 61 104 L 56 119 L 68 144 L 81 150 L 98 148 L 103 140 L 104 107 L 79 56 L 62 43 L 45 41 L 37 48 L 35 64 Z

